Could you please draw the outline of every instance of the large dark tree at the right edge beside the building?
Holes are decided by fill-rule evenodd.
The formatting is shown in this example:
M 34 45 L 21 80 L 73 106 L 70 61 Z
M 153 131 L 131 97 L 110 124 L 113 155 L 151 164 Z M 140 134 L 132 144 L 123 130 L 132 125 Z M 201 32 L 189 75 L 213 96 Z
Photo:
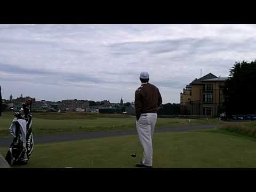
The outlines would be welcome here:
M 227 115 L 256 113 L 256 60 L 235 62 L 223 87 Z

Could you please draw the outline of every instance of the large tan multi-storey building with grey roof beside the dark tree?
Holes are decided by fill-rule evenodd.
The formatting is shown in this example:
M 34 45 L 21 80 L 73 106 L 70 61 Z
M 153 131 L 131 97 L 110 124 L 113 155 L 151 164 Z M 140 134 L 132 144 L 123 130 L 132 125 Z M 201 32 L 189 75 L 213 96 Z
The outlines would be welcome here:
M 218 116 L 223 111 L 222 88 L 227 77 L 211 73 L 195 79 L 180 93 L 181 115 Z

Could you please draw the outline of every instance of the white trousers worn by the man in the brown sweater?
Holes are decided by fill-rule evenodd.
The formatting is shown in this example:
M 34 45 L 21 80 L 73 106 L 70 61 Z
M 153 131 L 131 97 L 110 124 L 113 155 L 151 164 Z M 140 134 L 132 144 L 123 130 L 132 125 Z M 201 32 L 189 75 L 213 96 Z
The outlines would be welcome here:
M 153 166 L 153 134 L 157 121 L 156 113 L 141 114 L 136 127 L 143 147 L 142 163 L 147 166 Z

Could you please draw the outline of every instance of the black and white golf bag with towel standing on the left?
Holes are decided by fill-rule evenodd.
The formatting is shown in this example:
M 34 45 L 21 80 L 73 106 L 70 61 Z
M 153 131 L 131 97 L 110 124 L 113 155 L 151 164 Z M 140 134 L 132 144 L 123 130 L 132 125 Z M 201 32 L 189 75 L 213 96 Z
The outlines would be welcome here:
M 9 128 L 13 141 L 6 154 L 10 165 L 25 165 L 33 152 L 34 138 L 32 133 L 31 101 L 26 101 L 22 109 L 14 111 L 14 118 Z M 23 111 L 22 111 L 23 110 Z

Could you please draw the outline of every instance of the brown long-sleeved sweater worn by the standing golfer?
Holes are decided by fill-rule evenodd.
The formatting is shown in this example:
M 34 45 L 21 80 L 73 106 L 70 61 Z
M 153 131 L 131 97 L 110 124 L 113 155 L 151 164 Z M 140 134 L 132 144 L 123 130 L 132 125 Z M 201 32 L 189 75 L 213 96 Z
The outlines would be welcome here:
M 162 97 L 155 85 L 146 83 L 135 91 L 135 113 L 157 113 L 157 108 L 162 104 Z

